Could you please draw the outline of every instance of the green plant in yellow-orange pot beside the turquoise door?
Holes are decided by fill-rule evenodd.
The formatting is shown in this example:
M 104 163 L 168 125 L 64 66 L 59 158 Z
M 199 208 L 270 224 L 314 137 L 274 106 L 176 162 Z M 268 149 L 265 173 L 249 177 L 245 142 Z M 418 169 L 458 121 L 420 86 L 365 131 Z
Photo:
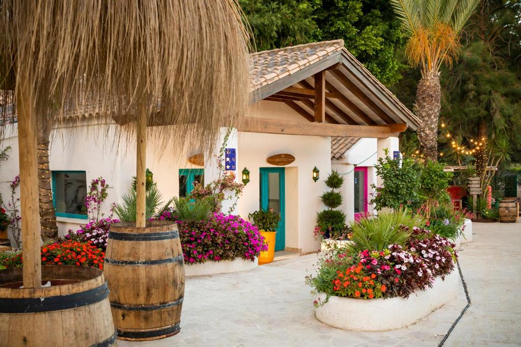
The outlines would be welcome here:
M 259 265 L 271 263 L 275 256 L 275 236 L 277 235 L 276 230 L 280 222 L 280 215 L 275 213 L 273 209 L 269 209 L 267 211 L 255 211 L 248 216 L 257 226 L 268 245 L 268 250 L 262 251 L 259 255 Z

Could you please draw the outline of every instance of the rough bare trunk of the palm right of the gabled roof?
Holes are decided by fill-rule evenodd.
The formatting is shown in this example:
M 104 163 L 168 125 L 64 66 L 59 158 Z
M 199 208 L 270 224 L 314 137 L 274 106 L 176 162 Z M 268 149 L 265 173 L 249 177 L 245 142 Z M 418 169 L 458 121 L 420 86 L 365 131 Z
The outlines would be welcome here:
M 429 71 L 424 73 L 418 82 L 416 115 L 423 122 L 418 128 L 418 139 L 423 148 L 425 158 L 438 160 L 438 119 L 440 117 L 440 73 Z

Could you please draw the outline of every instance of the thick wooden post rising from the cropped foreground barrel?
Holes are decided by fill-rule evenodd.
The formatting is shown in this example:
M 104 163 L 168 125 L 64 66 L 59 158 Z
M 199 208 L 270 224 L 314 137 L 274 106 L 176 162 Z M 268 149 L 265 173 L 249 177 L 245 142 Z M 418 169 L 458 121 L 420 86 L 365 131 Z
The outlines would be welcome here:
M 42 286 L 40 259 L 40 211 L 38 193 L 38 154 L 36 152 L 36 112 L 27 76 L 18 76 L 16 108 L 20 161 L 20 204 L 22 217 L 23 287 Z

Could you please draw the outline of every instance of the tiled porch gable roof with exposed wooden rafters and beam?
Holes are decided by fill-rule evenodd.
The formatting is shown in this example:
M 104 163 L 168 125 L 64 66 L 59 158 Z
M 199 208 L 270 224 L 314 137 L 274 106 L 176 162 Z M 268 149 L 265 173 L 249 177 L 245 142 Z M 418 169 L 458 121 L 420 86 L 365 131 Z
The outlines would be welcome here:
M 259 52 L 252 64 L 252 101 L 281 102 L 309 123 L 246 117 L 239 131 L 386 138 L 420 125 L 341 40 Z

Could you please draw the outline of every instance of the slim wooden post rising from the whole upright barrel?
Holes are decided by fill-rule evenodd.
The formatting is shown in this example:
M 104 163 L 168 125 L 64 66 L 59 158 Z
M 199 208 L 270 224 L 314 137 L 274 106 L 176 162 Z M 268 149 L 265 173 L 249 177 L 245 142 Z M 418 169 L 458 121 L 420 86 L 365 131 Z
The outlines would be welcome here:
M 136 216 L 135 226 L 144 228 L 146 224 L 146 104 L 137 120 L 137 160 L 136 160 Z

